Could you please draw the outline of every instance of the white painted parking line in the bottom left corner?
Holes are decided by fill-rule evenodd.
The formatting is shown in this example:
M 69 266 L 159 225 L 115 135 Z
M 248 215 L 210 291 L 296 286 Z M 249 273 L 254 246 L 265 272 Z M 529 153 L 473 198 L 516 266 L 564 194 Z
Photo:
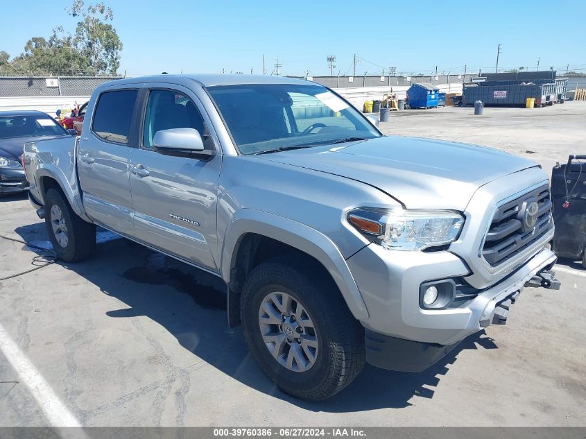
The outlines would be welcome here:
M 0 325 L 0 351 L 17 372 L 19 383 L 24 384 L 31 391 L 31 395 L 35 398 L 51 427 L 81 427 L 76 417 L 55 395 L 49 383 L 45 381 L 33 363 L 26 358 L 18 345 L 12 341 L 2 325 Z

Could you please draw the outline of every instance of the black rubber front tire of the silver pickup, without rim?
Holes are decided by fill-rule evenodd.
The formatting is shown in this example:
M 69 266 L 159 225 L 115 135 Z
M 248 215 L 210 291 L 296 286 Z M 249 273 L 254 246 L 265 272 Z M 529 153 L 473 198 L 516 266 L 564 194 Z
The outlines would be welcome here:
M 320 273 L 310 277 L 306 273 Z M 259 307 L 268 293 L 282 291 L 307 310 L 318 338 L 315 363 L 304 372 L 288 370 L 269 352 L 259 327 Z M 364 329 L 336 285 L 315 266 L 273 259 L 252 270 L 241 295 L 241 320 L 252 357 L 285 393 L 310 401 L 327 399 L 356 378 L 365 363 Z

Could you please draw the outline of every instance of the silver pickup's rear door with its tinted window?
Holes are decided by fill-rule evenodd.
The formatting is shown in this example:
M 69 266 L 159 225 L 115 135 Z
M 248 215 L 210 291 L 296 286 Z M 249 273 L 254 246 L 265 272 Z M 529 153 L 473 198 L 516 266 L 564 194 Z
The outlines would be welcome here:
M 78 147 L 78 177 L 89 218 L 117 232 L 132 230 L 128 164 L 137 143 L 138 88 L 105 89 L 85 121 Z M 89 127 L 89 129 L 87 129 Z

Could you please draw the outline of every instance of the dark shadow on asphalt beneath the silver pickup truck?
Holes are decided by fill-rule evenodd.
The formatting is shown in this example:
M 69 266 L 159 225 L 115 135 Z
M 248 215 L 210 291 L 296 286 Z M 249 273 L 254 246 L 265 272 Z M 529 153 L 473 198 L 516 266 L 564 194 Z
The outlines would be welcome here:
M 51 245 L 44 223 L 18 227 L 15 232 L 26 242 Z M 248 354 L 241 328 L 227 327 L 225 284 L 218 277 L 105 230 L 98 232 L 98 250 L 92 259 L 57 264 L 128 305 L 107 311 L 108 318 L 146 316 L 173 334 L 193 354 L 194 363 L 202 359 L 246 386 L 310 411 L 343 413 L 401 408 L 410 406 L 417 398 L 431 399 L 434 388 L 449 373 L 448 366 L 460 352 L 497 348 L 492 338 L 480 332 L 424 372 L 391 372 L 366 365 L 359 377 L 338 395 L 325 402 L 304 402 L 286 395 L 264 377 Z M 186 368 L 187 372 L 189 369 Z M 191 392 L 196 388 L 197 384 Z

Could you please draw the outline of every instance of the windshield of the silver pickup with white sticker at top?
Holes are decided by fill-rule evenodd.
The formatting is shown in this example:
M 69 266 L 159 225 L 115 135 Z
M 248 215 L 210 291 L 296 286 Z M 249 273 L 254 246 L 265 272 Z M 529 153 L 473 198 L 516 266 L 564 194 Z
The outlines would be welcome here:
M 208 90 L 243 154 L 381 136 L 358 110 L 325 87 L 218 85 Z

